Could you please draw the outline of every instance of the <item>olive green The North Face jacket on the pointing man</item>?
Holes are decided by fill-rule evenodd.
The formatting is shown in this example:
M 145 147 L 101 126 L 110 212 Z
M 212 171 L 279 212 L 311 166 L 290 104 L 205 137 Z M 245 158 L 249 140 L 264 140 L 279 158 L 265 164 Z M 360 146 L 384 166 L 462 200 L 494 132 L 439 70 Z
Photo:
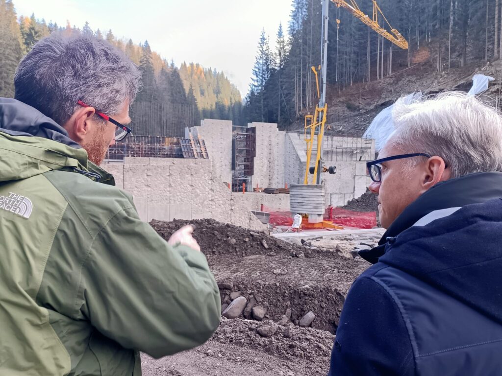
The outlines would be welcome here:
M 204 255 L 142 222 L 54 121 L 0 98 L 0 375 L 137 376 L 139 351 L 200 345 L 219 317 Z

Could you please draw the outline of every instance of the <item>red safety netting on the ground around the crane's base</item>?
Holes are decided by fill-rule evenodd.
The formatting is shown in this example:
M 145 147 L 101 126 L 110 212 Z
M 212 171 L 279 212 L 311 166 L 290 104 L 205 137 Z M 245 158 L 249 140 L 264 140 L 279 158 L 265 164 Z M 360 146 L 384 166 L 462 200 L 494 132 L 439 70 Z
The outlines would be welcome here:
M 276 211 L 271 208 L 262 207 L 262 212 L 270 213 L 270 224 L 272 226 L 291 226 L 293 218 L 289 211 Z M 356 229 L 371 229 L 376 226 L 375 212 L 352 212 L 341 208 L 329 207 L 324 212 L 324 220 Z

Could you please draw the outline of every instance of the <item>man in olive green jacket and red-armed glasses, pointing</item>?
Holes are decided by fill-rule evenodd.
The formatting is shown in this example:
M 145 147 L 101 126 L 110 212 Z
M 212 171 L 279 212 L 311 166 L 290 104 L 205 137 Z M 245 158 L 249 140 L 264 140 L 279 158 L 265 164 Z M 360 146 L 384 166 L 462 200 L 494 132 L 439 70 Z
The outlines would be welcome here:
M 94 37 L 51 35 L 0 98 L 0 374 L 141 374 L 205 342 L 220 298 L 185 227 L 165 242 L 99 167 L 131 128 L 138 68 Z

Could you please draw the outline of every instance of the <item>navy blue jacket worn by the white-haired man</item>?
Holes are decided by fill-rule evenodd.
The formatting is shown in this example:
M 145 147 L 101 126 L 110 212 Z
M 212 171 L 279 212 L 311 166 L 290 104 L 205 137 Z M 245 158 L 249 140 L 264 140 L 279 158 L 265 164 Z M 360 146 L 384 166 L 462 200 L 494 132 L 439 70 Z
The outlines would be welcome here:
M 451 179 L 394 221 L 353 283 L 330 376 L 502 375 L 502 173 Z

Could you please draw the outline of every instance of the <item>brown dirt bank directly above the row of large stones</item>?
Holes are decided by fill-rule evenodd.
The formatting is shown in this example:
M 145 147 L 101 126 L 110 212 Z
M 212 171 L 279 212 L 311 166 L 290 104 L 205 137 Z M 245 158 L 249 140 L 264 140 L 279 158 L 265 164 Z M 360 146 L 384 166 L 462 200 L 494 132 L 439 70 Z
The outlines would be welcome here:
M 341 256 L 209 256 L 208 262 L 218 281 L 222 304 L 229 304 L 236 295 L 246 298 L 247 306 L 240 316 L 250 318 L 252 307 L 262 306 L 265 319 L 278 321 L 286 315 L 298 325 L 303 315 L 312 311 L 312 327 L 333 333 L 348 289 L 369 266 Z

